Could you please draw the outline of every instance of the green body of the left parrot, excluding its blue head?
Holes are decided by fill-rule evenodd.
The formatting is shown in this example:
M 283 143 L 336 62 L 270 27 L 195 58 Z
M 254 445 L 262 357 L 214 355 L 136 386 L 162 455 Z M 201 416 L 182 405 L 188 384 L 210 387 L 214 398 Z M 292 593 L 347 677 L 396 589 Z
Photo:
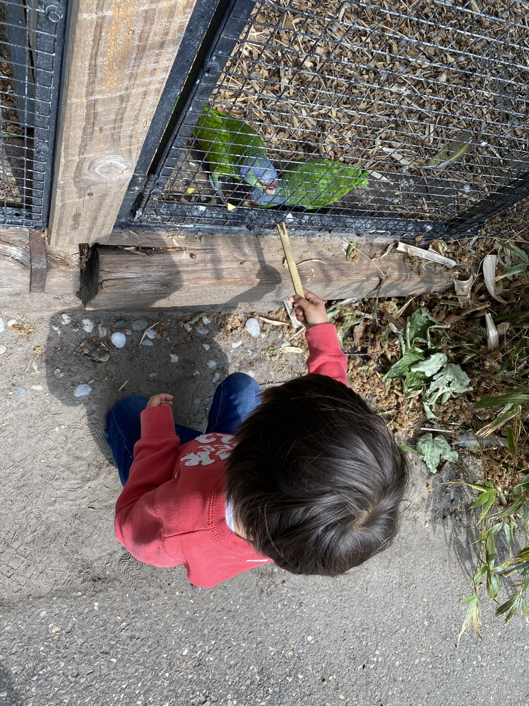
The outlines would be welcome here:
M 265 153 L 265 143 L 250 125 L 213 108 L 205 107 L 193 135 L 205 152 L 214 179 L 219 174 L 241 179 L 237 167 L 243 158 Z

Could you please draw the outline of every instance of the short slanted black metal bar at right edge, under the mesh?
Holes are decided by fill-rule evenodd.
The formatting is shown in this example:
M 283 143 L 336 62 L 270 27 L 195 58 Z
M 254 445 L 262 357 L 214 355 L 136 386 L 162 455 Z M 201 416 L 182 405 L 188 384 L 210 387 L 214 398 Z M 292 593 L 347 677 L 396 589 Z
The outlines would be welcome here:
M 529 172 L 523 172 L 499 191 L 494 191 L 472 208 L 468 208 L 446 222 L 446 234 L 449 237 L 461 235 L 471 228 L 482 225 L 491 216 L 509 208 L 527 196 L 529 196 Z

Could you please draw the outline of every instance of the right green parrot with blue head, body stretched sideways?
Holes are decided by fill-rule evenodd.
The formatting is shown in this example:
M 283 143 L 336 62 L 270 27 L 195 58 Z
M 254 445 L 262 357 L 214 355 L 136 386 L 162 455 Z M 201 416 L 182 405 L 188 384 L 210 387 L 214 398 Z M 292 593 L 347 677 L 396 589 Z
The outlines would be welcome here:
M 272 208 L 279 205 L 307 209 L 329 206 L 355 186 L 367 186 L 369 172 L 331 160 L 308 160 L 288 167 L 277 180 L 274 193 L 253 189 L 249 205 Z

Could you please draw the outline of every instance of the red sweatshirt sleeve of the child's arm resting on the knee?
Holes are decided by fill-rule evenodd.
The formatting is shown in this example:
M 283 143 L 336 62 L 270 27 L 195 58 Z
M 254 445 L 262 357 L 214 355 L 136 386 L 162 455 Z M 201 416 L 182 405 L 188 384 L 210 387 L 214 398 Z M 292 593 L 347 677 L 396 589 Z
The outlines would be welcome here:
M 171 407 L 150 407 L 141 413 L 141 438 L 134 446 L 128 481 L 116 503 L 116 539 L 139 561 L 167 566 L 157 512 L 159 486 L 173 479 L 180 439 Z

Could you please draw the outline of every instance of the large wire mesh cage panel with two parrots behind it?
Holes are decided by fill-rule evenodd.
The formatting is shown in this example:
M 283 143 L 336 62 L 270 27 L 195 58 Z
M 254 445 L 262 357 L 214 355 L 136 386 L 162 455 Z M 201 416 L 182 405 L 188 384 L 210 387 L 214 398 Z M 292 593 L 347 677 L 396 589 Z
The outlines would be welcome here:
M 435 229 L 527 193 L 528 16 L 523 0 L 257 1 L 183 107 L 142 219 Z

